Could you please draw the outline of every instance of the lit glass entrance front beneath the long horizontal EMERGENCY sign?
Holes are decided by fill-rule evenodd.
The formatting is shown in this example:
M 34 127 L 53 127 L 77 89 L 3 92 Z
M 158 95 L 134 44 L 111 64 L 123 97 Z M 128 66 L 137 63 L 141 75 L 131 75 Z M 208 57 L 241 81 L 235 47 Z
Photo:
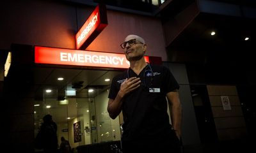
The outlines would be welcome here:
M 115 120 L 108 115 L 108 93 L 111 79 L 120 71 L 84 71 L 92 77 L 93 74 L 99 76 L 97 80 L 110 78 L 108 83 L 99 84 L 92 77 L 93 84 L 76 92 L 68 92 L 68 84 L 60 87 L 58 85 L 40 85 L 36 89 L 35 98 L 35 136 L 43 122 L 44 115 L 52 115 L 52 120 L 56 122 L 58 130 L 58 145 L 63 136 L 70 143 L 72 149 L 81 145 L 92 143 L 102 143 L 118 141 L 121 138 L 120 120 Z M 90 73 L 89 73 L 90 72 Z M 91 78 L 83 74 L 84 82 L 90 82 Z M 65 78 L 68 80 L 67 78 Z M 70 81 L 72 82 L 72 81 Z M 105 82 L 105 81 L 104 81 Z M 91 90 L 92 89 L 92 90 Z M 38 149 L 36 149 L 38 151 Z

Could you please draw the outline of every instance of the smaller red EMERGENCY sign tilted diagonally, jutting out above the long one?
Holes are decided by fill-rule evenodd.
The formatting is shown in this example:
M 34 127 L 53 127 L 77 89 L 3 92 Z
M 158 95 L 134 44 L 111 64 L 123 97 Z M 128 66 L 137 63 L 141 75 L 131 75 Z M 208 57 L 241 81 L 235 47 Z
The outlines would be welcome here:
M 99 4 L 76 34 L 76 48 L 85 49 L 108 25 L 107 11 L 104 4 Z

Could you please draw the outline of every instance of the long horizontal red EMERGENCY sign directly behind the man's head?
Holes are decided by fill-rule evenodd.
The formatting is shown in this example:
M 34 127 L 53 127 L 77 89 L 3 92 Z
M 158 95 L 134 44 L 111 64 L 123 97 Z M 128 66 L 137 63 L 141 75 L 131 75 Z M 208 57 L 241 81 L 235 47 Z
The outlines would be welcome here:
M 148 62 L 148 57 L 145 57 Z M 105 68 L 129 68 L 124 54 L 91 52 L 63 48 L 35 47 L 35 63 Z

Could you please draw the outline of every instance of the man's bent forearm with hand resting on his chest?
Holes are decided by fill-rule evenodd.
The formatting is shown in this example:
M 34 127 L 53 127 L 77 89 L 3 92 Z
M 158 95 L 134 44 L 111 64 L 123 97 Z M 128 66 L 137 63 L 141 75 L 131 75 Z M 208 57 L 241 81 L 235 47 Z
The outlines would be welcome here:
M 111 119 L 115 119 L 122 110 L 122 99 L 126 94 L 131 91 L 134 91 L 140 87 L 140 78 L 132 77 L 127 78 L 120 86 L 115 99 L 109 99 L 108 101 L 108 113 Z

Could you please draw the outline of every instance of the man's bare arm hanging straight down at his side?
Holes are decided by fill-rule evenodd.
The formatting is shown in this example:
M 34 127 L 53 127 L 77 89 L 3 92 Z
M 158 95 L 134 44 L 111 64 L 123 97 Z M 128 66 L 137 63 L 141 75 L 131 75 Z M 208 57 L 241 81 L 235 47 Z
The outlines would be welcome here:
M 180 139 L 181 136 L 181 120 L 182 120 L 182 106 L 179 99 L 179 92 L 178 90 L 168 92 L 166 94 L 170 113 L 171 113 L 171 119 L 172 119 L 172 126 L 175 130 L 175 133 L 177 137 Z

